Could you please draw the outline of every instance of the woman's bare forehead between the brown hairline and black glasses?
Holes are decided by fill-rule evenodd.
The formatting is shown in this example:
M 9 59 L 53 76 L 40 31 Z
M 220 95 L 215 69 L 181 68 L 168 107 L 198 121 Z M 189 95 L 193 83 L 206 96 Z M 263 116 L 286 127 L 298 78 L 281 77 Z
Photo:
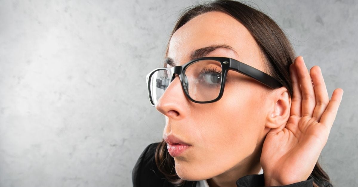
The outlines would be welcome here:
M 196 16 L 175 31 L 168 57 L 182 65 L 189 61 L 192 51 L 211 45 L 228 45 L 236 53 L 217 49 L 208 56 L 234 58 L 262 70 L 260 50 L 251 33 L 232 16 L 217 11 Z

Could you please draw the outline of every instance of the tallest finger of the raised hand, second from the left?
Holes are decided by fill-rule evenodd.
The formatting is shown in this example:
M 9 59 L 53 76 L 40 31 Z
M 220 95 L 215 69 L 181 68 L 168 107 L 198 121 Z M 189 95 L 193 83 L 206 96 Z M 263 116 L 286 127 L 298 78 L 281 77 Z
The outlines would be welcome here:
M 311 76 L 308 73 L 302 56 L 296 58 L 295 65 L 302 90 L 302 116 L 312 117 L 313 110 L 316 106 L 316 98 Z

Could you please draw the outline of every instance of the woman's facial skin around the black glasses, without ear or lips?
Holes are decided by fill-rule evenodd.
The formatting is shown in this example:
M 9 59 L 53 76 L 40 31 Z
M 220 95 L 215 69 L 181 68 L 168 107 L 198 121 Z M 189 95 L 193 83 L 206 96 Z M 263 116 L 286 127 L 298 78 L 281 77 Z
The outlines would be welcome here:
M 183 65 L 190 61 L 192 51 L 212 45 L 228 45 L 233 50 L 218 48 L 207 56 L 233 58 L 266 72 L 255 39 L 240 22 L 221 12 L 199 15 L 179 28 L 170 40 L 168 57 L 175 65 Z M 166 118 L 163 135 L 172 134 L 191 145 L 174 157 L 178 176 L 202 180 L 259 164 L 269 130 L 265 127 L 266 95 L 263 84 L 229 70 L 222 98 L 199 104 L 185 96 L 176 77 L 156 109 Z

